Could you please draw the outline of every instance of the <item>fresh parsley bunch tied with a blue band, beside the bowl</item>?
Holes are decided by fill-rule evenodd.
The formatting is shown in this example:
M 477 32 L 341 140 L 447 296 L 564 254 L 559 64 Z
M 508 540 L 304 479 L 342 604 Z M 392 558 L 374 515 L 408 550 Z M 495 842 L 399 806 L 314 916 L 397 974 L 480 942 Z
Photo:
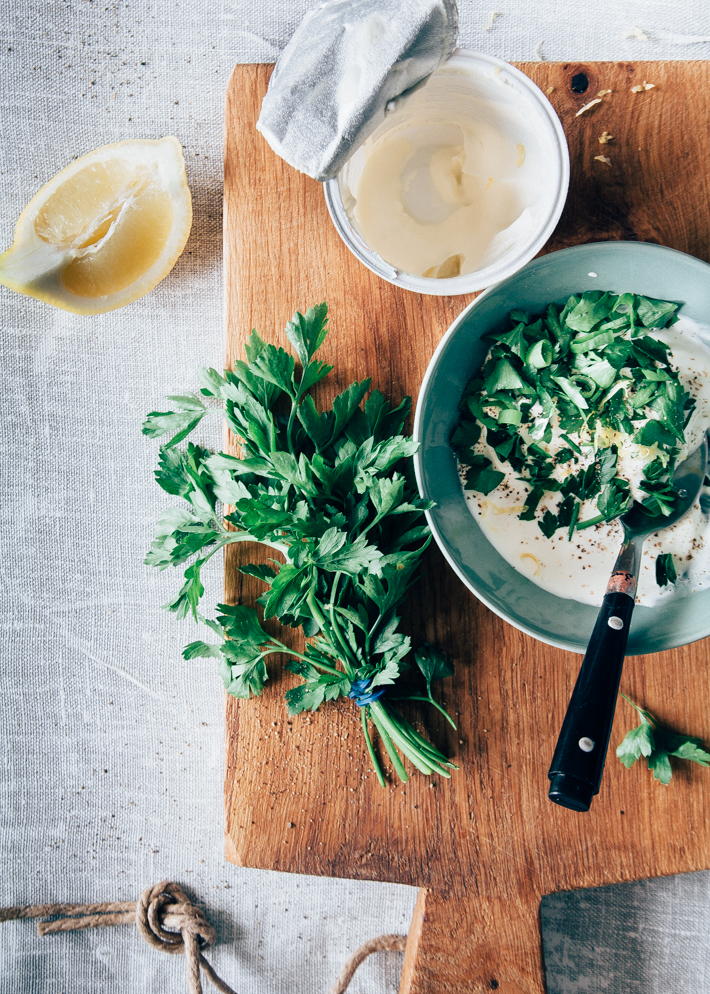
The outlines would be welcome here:
M 189 563 L 180 592 L 166 607 L 180 618 L 191 613 L 218 636 L 217 643 L 192 642 L 183 655 L 218 659 L 229 694 L 260 694 L 268 679 L 266 657 L 287 653 L 287 668 L 303 678 L 286 694 L 289 714 L 353 698 L 382 786 L 368 718 L 401 780 L 408 775 L 400 753 L 422 773 L 449 777 L 456 767 L 402 717 L 394 701 L 428 701 L 443 710 L 431 684 L 451 676 L 450 661 L 423 646 L 415 661 L 426 694 L 392 693 L 411 649 L 409 636 L 399 631 L 397 609 L 431 540 L 422 518 L 432 505 L 419 497 L 412 471 L 417 445 L 402 434 L 410 399 L 392 408 L 374 390 L 365 400 L 366 379 L 337 396 L 331 410 L 319 412 L 308 391 L 333 368 L 314 359 L 327 334 L 326 315 L 320 304 L 305 315 L 297 312 L 286 325 L 300 367 L 294 356 L 252 331 L 246 362 L 236 362 L 223 376 L 200 370 L 201 393 L 224 402 L 242 458 L 192 442 L 176 448 L 210 413 L 197 396 L 170 397 L 178 410 L 148 415 L 145 435 L 171 436 L 160 450 L 156 480 L 185 504 L 161 515 L 146 563 L 158 569 Z M 233 510 L 224 514 L 224 505 Z M 220 604 L 216 621 L 199 612 L 200 572 L 234 542 L 259 542 L 285 558 L 242 566 L 241 572 L 265 584 L 258 598 L 265 619 L 303 629 L 310 639 L 304 652 L 269 635 L 253 607 Z

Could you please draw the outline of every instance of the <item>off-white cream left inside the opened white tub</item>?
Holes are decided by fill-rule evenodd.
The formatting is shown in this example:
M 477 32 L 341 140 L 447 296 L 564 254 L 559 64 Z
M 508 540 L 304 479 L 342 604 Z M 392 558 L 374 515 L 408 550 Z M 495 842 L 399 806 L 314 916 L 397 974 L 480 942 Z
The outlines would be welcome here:
M 534 236 L 549 139 L 501 77 L 443 66 L 393 109 L 340 177 L 350 220 L 405 273 L 450 278 Z

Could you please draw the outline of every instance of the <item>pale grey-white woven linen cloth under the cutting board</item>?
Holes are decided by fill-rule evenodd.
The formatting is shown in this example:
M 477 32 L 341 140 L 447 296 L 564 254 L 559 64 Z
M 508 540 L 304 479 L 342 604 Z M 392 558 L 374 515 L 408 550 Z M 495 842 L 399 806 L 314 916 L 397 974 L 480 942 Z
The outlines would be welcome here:
M 0 245 L 73 156 L 127 137 L 178 137 L 195 207 L 173 272 L 123 310 L 80 318 L 0 287 L 0 903 L 133 899 L 175 879 L 207 908 L 212 960 L 241 994 L 325 991 L 360 942 L 407 930 L 415 899 L 226 863 L 221 685 L 212 661 L 182 661 L 192 627 L 160 610 L 176 572 L 142 565 L 169 500 L 141 421 L 222 356 L 225 84 L 235 62 L 272 61 L 311 6 L 0 0 Z M 491 9 L 462 0 L 462 44 L 509 59 L 710 56 L 693 40 L 710 37 L 704 0 L 505 0 L 486 31 Z M 633 28 L 649 40 L 623 40 Z M 217 563 L 207 582 L 214 602 Z M 353 994 L 396 990 L 400 965 L 373 957 Z M 1 994 L 177 992 L 183 969 L 129 928 L 0 926 Z

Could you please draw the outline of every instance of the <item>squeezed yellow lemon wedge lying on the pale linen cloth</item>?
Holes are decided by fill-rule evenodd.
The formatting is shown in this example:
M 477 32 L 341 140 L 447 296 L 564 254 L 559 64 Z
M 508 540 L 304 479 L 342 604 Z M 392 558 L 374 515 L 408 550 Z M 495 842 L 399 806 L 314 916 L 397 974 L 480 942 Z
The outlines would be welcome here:
M 0 283 L 75 314 L 103 314 L 167 276 L 191 225 L 176 138 L 102 145 L 25 207 L 0 255 Z

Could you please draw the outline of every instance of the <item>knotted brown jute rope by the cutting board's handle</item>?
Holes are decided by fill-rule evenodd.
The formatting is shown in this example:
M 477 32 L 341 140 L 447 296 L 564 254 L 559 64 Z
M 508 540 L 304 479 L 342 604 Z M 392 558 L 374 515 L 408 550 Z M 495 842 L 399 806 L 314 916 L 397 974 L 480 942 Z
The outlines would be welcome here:
M 103 904 L 31 904 L 0 908 L 0 922 L 18 918 L 54 918 L 37 922 L 40 935 L 52 932 L 72 932 L 81 928 L 101 928 L 104 925 L 130 925 L 135 922 L 145 941 L 163 953 L 183 953 L 187 967 L 189 994 L 202 994 L 200 970 L 222 994 L 236 994 L 218 977 L 202 955 L 202 949 L 213 946 L 217 933 L 203 912 L 188 898 L 178 884 L 164 880 L 143 891 L 138 901 L 113 901 Z M 169 930 L 169 931 L 168 931 Z M 403 950 L 406 935 L 380 935 L 355 950 L 340 971 L 329 994 L 344 994 L 355 971 L 371 953 Z

